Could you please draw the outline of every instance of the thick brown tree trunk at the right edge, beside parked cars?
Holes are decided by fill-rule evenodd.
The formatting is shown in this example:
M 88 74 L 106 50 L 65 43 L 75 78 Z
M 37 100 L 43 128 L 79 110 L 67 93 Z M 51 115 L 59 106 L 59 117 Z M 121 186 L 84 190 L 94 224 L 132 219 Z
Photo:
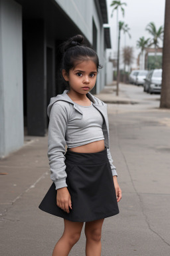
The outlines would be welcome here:
M 163 39 L 163 73 L 161 88 L 161 108 L 170 109 L 170 0 L 165 2 L 165 30 Z

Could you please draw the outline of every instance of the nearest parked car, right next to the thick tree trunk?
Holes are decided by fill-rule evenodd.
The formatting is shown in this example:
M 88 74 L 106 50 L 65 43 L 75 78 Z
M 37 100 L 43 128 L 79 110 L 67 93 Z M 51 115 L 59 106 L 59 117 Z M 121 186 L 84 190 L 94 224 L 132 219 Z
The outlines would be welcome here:
M 162 69 L 153 69 L 147 73 L 143 90 L 147 93 L 161 93 Z

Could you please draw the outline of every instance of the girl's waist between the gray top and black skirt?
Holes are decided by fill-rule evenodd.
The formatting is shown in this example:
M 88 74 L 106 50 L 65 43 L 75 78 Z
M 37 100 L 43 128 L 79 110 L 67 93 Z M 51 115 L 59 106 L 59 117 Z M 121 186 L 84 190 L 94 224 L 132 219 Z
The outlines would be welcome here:
M 78 153 L 96 153 L 105 149 L 104 139 L 101 141 L 94 141 L 79 147 L 69 147 L 69 151 L 74 151 Z

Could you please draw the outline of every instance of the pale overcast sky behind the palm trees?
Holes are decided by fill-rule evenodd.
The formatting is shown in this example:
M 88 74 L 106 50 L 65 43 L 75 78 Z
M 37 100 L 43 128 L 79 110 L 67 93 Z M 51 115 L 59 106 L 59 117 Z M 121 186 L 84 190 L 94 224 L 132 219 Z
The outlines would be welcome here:
M 111 41 L 113 51 L 116 49 L 116 11 L 114 11 L 114 17 L 111 18 L 111 13 L 113 7 L 110 7 L 112 0 L 107 0 L 108 2 L 108 19 L 110 23 L 111 30 Z M 124 5 L 125 16 L 122 16 L 121 10 L 119 10 L 119 21 L 124 21 L 128 24 L 130 28 L 131 39 L 126 35 L 126 40 L 124 33 L 122 33 L 122 42 L 121 49 L 125 45 L 131 46 L 134 49 L 135 58 L 139 53 L 139 49 L 136 48 L 136 42 L 139 37 L 144 36 L 146 39 L 151 37 L 145 27 L 151 21 L 155 23 L 157 29 L 163 25 L 164 26 L 164 15 L 165 15 L 165 0 L 122 0 L 122 2 L 127 3 L 127 6 Z M 162 47 L 162 43 L 160 43 Z M 136 64 L 136 61 L 134 62 Z

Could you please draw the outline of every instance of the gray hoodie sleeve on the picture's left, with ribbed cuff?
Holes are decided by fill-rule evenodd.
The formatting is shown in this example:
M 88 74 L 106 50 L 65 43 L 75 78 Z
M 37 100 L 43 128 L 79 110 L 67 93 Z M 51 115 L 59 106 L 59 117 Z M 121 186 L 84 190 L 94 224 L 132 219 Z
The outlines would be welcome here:
M 67 127 L 67 115 L 59 103 L 54 103 L 50 111 L 48 125 L 48 160 L 50 165 L 50 178 L 56 189 L 67 187 L 65 154 L 65 134 Z

